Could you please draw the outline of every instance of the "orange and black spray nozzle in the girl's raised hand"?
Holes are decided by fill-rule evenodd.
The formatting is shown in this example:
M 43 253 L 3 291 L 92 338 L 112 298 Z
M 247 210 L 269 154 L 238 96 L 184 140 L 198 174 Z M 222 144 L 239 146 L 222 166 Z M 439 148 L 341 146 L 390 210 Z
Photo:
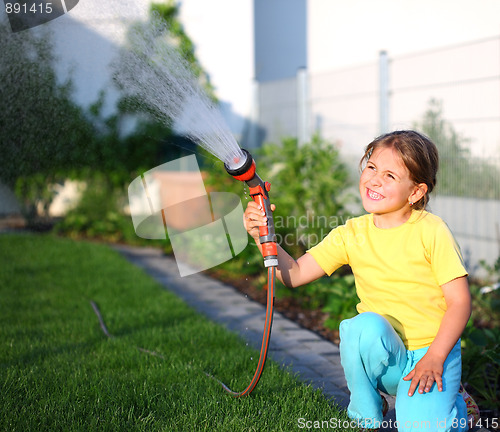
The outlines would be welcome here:
M 277 267 L 278 249 L 276 246 L 273 212 L 268 193 L 271 190 L 271 184 L 264 182 L 255 172 L 255 161 L 252 155 L 245 149 L 242 149 L 242 151 L 246 156 L 243 164 L 240 161 L 235 161 L 238 162 L 238 168 L 230 168 L 227 163 L 224 164 L 224 167 L 229 175 L 232 175 L 236 180 L 244 181 L 248 185 L 250 196 L 264 209 L 267 217 L 267 226 L 259 227 L 259 241 L 262 245 L 264 265 L 266 267 Z

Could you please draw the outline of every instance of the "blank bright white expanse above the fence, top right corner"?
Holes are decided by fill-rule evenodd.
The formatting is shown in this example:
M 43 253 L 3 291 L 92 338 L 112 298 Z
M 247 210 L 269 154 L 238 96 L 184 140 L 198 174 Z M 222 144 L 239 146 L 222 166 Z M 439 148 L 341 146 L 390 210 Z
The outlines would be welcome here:
M 499 0 L 308 1 L 315 72 L 500 35 Z

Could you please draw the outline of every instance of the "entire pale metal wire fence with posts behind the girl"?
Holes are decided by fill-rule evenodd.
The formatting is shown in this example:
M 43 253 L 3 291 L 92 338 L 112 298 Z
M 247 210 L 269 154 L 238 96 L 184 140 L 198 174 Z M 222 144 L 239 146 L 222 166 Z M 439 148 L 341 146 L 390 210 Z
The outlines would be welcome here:
M 264 142 L 317 133 L 353 167 L 381 132 L 422 129 L 438 113 L 446 139 L 437 143 L 442 169 L 433 210 L 471 267 L 500 254 L 500 36 L 392 58 L 381 53 L 378 62 L 260 84 L 258 106 Z

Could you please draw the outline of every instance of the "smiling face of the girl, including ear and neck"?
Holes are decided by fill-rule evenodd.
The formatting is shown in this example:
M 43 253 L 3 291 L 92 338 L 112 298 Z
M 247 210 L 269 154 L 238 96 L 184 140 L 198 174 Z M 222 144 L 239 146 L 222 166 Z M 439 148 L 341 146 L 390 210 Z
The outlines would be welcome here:
M 364 209 L 373 213 L 375 225 L 392 228 L 403 224 L 411 215 L 410 202 L 423 196 L 426 185 L 417 185 L 392 147 L 376 148 L 359 180 Z

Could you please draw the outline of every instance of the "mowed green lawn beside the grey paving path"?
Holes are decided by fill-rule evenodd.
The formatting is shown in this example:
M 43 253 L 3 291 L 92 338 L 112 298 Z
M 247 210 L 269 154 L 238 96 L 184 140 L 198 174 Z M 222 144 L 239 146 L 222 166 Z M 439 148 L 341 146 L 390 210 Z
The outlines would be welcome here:
M 0 299 L 2 431 L 291 431 L 346 419 L 271 361 L 249 397 L 225 393 L 204 372 L 243 390 L 258 352 L 105 245 L 0 235 Z

